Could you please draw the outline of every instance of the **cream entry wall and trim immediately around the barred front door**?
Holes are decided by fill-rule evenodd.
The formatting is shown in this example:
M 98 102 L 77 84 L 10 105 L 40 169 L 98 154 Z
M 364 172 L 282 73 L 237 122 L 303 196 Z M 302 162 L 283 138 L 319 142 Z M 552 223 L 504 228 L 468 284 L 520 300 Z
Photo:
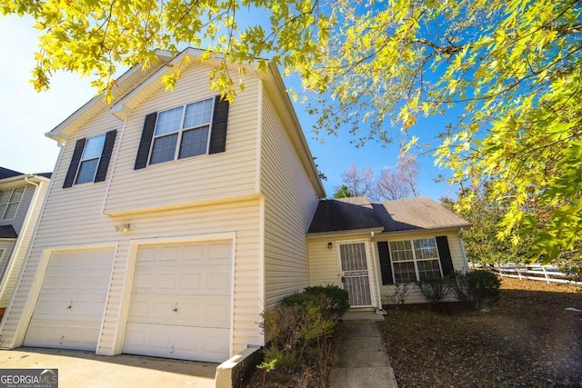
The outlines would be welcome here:
M 343 287 L 339 276 L 338 244 L 366 243 L 368 272 L 370 276 L 370 293 L 372 304 L 377 305 L 376 271 L 380 270 L 377 259 L 375 242 L 370 241 L 370 234 L 336 235 L 328 237 L 309 238 L 309 266 L 311 271 L 311 285 L 336 284 Z M 331 249 L 327 246 L 331 243 Z

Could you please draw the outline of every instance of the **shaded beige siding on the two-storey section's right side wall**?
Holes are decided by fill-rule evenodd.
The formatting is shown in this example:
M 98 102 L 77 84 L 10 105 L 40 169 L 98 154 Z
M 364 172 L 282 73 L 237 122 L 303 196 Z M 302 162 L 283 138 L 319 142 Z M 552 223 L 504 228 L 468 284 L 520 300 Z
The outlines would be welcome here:
M 306 232 L 318 198 L 281 118 L 263 94 L 261 193 L 265 196 L 265 306 L 309 285 Z

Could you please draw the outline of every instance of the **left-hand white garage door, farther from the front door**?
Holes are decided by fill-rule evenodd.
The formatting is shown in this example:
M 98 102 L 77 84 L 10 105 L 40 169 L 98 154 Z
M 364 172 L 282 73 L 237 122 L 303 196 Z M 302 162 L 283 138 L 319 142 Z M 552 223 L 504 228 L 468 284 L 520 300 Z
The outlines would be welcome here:
M 25 346 L 96 350 L 113 249 L 51 254 Z

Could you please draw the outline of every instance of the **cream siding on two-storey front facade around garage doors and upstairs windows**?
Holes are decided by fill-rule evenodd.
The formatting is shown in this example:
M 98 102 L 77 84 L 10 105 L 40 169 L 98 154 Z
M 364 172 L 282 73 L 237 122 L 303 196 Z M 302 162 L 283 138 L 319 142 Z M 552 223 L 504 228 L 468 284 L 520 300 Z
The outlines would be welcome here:
M 7 319 L 0 325 L 1 348 L 18 346 L 24 339 L 43 281 L 47 249 L 116 246 L 105 320 L 97 347 L 98 353 L 113 354 L 121 351 L 122 333 L 116 325 L 126 303 L 122 293 L 127 281 L 130 241 L 159 239 L 162 243 L 176 236 L 204 234 L 236 235 L 233 352 L 245 349 L 248 343 L 259 342 L 256 306 L 263 296 L 258 292 L 261 258 L 260 199 L 255 184 L 257 81 L 247 78 L 245 93 L 238 95 L 236 103 L 230 106 L 225 153 L 134 170 L 146 114 L 214 96 L 206 91 L 206 68 L 196 66 L 185 72 L 174 92 L 158 92 L 136 108 L 127 121 L 125 134 L 124 122 L 105 110 L 67 140 L 35 243 L 16 284 L 15 297 L 7 308 Z M 112 129 L 117 130 L 117 135 L 105 182 L 75 184 L 63 189 L 76 140 Z M 204 200 L 216 197 L 219 198 L 216 204 L 201 205 Z M 102 214 L 105 198 L 105 213 L 121 215 Z M 170 210 L 170 205 L 180 208 Z M 132 213 L 135 210 L 140 213 Z M 117 232 L 115 226 L 120 224 L 131 224 L 131 231 Z M 32 290 L 30 294 L 29 290 Z

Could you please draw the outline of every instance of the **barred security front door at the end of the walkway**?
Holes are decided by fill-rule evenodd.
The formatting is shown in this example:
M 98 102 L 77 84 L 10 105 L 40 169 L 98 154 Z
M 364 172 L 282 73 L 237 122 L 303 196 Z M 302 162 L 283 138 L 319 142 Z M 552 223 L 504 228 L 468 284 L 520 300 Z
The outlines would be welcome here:
M 372 306 L 366 243 L 339 244 L 339 263 L 351 307 Z

